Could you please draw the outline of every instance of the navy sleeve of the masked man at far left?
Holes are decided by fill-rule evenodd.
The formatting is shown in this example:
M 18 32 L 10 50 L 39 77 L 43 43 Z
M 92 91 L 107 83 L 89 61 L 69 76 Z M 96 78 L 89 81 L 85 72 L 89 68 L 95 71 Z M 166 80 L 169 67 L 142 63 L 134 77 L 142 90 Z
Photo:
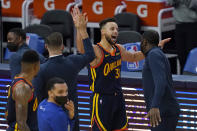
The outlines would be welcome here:
M 13 80 L 14 77 L 20 73 L 21 71 L 21 57 L 14 53 L 9 60 L 10 63 L 10 72 L 11 72 L 11 79 Z

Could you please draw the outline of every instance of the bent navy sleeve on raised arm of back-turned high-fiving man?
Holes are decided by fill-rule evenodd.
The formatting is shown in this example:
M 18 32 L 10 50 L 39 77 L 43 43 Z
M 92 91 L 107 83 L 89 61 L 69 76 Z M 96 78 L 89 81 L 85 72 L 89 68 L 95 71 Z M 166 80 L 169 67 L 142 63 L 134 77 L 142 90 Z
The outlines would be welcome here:
M 85 54 L 70 56 L 72 62 L 78 68 L 78 71 L 84 68 L 95 58 L 94 49 L 89 38 L 83 40 L 83 45 L 84 45 Z

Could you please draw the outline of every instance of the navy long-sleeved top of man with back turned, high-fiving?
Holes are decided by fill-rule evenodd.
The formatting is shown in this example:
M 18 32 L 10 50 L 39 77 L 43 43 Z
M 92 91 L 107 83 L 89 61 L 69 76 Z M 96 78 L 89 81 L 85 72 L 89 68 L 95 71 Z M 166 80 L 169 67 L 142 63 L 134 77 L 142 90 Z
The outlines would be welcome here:
M 33 80 L 33 86 L 37 92 L 39 102 L 48 96 L 46 89 L 47 81 L 53 77 L 60 77 L 65 80 L 68 86 L 68 98 L 74 101 L 75 115 L 77 115 L 77 76 L 80 70 L 95 58 L 90 39 L 83 40 L 83 44 L 85 50 L 85 54 L 83 55 L 69 55 L 67 57 L 63 55 L 54 56 L 49 58 L 44 64 L 41 64 L 40 71 Z

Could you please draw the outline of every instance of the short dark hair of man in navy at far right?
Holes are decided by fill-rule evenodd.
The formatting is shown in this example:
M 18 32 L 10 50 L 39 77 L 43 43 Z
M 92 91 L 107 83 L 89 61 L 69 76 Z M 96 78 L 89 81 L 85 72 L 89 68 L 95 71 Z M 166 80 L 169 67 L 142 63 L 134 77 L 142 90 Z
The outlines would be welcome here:
M 145 31 L 142 35 L 142 39 L 146 40 L 149 44 L 158 46 L 159 44 L 159 33 L 154 30 Z

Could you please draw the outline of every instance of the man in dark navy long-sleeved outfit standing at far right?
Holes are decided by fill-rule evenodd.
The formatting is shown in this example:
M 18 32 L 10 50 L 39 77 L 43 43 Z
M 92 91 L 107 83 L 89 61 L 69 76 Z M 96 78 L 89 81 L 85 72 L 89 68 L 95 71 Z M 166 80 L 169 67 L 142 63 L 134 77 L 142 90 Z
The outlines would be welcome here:
M 169 61 L 157 46 L 156 31 L 144 32 L 142 39 L 141 50 L 146 56 L 142 71 L 146 117 L 150 118 L 152 131 L 175 131 L 180 109 Z

